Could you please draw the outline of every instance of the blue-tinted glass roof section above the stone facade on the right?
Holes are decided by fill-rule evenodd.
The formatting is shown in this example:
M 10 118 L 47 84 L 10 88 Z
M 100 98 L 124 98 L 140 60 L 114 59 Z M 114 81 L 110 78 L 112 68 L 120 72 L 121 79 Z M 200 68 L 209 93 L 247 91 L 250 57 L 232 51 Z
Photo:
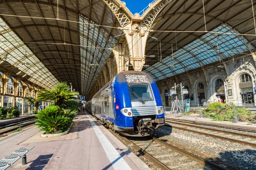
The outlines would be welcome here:
M 225 24 L 212 32 L 175 51 L 173 58 L 169 54 L 144 72 L 155 80 L 161 80 L 253 49 L 243 36 L 236 35 L 237 32 Z

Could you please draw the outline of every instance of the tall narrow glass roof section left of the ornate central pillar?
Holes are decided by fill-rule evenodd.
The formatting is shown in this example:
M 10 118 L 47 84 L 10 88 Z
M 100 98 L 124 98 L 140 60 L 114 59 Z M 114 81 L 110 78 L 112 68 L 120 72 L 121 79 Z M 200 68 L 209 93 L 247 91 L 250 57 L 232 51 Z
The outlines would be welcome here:
M 79 22 L 88 23 L 86 18 L 79 17 Z M 90 21 L 92 24 L 96 24 Z M 113 37 L 99 26 L 79 23 L 81 55 L 81 88 L 82 94 L 90 91 L 97 77 L 111 55 Z M 87 37 L 88 36 L 88 37 Z M 85 86 L 86 85 L 86 86 Z

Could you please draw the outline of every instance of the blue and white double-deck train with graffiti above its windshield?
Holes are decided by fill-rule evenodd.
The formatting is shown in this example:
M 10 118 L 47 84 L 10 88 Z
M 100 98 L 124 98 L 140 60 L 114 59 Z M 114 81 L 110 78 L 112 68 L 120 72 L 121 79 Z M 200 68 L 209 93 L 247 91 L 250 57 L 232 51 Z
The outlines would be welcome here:
M 165 123 L 157 85 L 141 71 L 117 74 L 87 102 L 86 109 L 125 136 L 148 136 Z

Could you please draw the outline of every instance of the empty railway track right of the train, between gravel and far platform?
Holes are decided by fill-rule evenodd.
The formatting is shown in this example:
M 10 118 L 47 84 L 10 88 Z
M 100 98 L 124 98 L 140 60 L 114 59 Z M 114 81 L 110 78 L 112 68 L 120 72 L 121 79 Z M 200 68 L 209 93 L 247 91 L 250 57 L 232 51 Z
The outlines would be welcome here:
M 171 125 L 166 124 L 166 126 L 171 126 L 173 129 L 185 130 L 192 133 L 198 133 L 205 136 L 211 136 L 214 138 L 236 142 L 239 144 L 244 144 L 251 147 L 256 147 L 256 136 L 250 134 L 236 133 L 230 132 L 226 130 L 212 129 L 210 127 L 198 127 L 196 125 L 204 125 L 197 123 L 196 125 L 184 124 L 184 122 L 170 121 L 166 120 L 166 123 L 170 123 Z M 188 122 L 185 122 L 188 123 Z M 224 127 L 221 127 L 224 128 Z

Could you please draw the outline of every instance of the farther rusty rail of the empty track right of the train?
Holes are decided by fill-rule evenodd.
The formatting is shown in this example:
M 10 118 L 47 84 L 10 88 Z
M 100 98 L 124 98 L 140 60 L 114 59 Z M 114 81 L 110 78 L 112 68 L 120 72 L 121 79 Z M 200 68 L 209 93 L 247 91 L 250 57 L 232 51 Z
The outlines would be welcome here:
M 186 122 L 184 122 L 184 123 L 182 123 L 182 122 L 169 122 L 169 121 L 166 121 L 166 122 L 172 123 L 172 124 L 174 123 L 174 124 L 184 125 L 184 126 L 192 126 L 192 127 L 197 127 L 199 129 L 207 129 L 207 130 L 212 130 L 212 131 L 215 131 L 215 132 L 221 132 L 221 133 L 225 133 L 225 134 L 232 134 L 232 135 L 236 135 L 236 136 L 250 137 L 250 138 L 256 139 L 256 136 L 253 136 L 253 135 L 250 135 L 250 134 L 229 132 L 229 131 L 225 131 L 225 130 L 221 130 L 221 129 L 217 130 L 217 129 L 212 129 L 212 128 L 209 128 L 209 127 L 198 127 L 198 126 L 196 126 L 194 124 L 192 124 L 192 125 L 184 124 Z M 221 128 L 223 128 L 223 127 L 221 127 Z

